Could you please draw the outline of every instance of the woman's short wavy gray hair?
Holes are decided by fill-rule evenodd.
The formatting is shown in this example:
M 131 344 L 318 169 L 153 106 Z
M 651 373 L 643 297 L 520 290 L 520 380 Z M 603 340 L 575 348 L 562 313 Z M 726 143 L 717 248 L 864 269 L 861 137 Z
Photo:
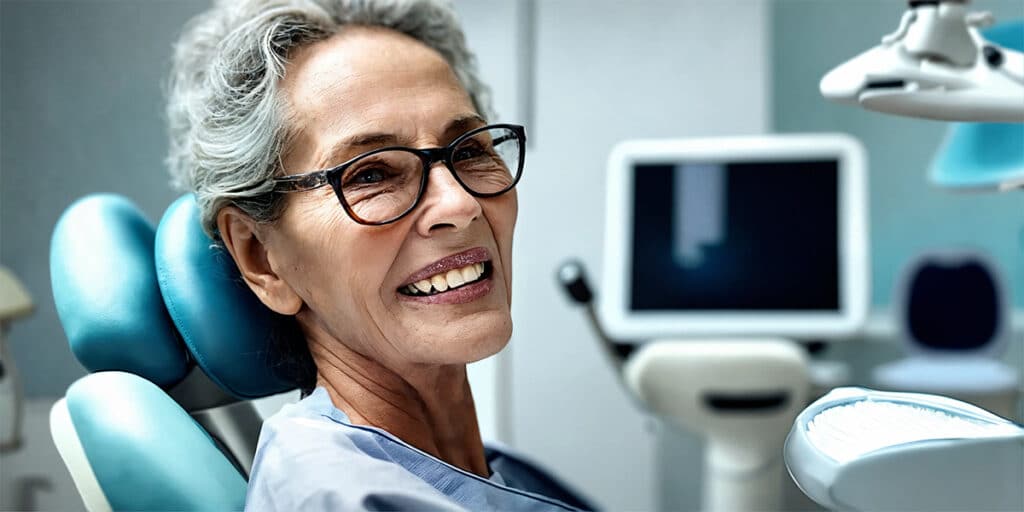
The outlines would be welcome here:
M 167 104 L 172 181 L 195 193 L 215 241 L 217 212 L 227 205 L 259 222 L 281 215 L 271 178 L 293 134 L 279 93 L 289 53 L 349 26 L 384 27 L 433 48 L 490 117 L 489 91 L 443 0 L 218 0 L 174 47 Z

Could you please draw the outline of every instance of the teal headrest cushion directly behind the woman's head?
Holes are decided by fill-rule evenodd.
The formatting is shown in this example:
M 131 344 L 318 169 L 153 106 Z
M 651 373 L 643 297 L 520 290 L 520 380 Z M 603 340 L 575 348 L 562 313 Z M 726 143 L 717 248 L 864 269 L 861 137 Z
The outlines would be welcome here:
M 240 398 L 295 387 L 271 371 L 271 311 L 242 281 L 230 254 L 203 231 L 190 194 L 167 209 L 156 251 L 167 310 L 210 379 Z

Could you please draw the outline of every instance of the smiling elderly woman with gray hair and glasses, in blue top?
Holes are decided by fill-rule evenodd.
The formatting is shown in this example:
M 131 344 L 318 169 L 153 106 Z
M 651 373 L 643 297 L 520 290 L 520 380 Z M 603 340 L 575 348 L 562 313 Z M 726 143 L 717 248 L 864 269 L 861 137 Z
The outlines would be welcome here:
M 525 133 L 488 122 L 450 6 L 225 0 L 181 37 L 168 114 L 304 395 L 264 424 L 247 508 L 570 508 L 480 439 L 466 365 L 512 332 Z

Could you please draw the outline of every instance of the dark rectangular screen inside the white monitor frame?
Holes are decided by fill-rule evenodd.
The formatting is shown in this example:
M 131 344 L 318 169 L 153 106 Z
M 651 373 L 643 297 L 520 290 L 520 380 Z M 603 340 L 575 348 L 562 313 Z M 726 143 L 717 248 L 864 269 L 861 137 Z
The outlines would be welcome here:
M 837 160 L 633 172 L 632 310 L 840 310 Z

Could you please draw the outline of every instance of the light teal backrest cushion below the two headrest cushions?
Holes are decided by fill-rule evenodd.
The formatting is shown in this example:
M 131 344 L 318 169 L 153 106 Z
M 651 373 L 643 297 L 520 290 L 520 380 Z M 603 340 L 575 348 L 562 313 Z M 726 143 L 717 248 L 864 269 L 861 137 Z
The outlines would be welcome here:
M 246 480 L 153 383 L 101 372 L 68 389 L 68 411 L 114 510 L 242 510 Z

